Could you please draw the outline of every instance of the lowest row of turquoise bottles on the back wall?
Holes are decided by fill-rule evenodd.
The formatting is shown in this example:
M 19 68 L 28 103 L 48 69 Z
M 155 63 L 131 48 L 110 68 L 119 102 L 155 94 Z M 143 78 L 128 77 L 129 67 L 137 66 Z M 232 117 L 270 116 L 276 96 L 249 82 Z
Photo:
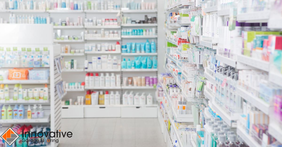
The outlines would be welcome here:
M 153 61 L 150 56 L 135 56 L 135 60 L 128 61 L 124 60 L 121 62 L 122 69 L 157 69 L 158 68 L 158 60 L 157 56 L 153 56 Z

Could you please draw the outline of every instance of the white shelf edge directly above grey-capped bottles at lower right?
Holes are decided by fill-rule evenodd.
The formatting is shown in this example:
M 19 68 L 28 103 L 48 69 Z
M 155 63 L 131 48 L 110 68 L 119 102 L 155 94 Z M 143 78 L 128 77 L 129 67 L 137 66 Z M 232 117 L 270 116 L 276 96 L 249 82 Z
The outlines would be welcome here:
M 211 108 L 215 110 L 215 112 L 223 119 L 223 121 L 225 121 L 228 126 L 232 128 L 236 127 L 236 123 L 233 123 L 233 121 L 237 121 L 239 119 L 239 113 L 227 113 L 226 110 L 222 109 L 222 107 L 216 104 L 214 101 L 211 103 L 211 105 Z

